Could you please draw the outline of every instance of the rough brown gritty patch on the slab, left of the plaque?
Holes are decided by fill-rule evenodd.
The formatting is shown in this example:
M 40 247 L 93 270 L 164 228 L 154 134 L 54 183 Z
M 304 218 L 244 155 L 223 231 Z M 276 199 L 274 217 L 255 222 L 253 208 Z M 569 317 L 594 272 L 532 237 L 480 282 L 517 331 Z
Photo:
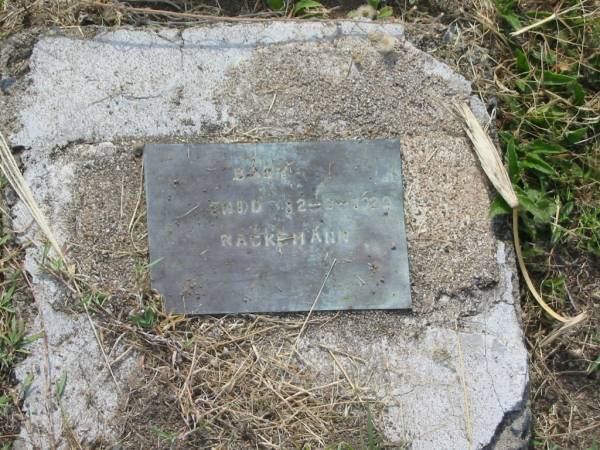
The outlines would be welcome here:
M 131 289 L 135 265 L 146 264 L 146 203 L 134 144 L 75 145 L 56 154 L 73 166 L 77 186 L 66 209 L 69 253 L 99 289 Z

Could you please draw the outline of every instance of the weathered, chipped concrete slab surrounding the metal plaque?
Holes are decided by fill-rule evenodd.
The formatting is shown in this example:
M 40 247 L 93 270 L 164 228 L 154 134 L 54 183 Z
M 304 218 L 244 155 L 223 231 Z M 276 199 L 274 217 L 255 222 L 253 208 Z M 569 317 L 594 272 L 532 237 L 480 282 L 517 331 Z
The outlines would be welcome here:
M 484 108 L 470 83 L 407 42 L 401 25 L 273 22 L 45 35 L 30 67 L 21 88 L 3 99 L 19 111 L 7 125 L 11 142 L 26 148 L 26 178 L 59 240 L 107 289 L 131 282 L 132 255 L 144 251 L 145 243 L 131 242 L 122 212 L 139 199 L 133 143 L 400 138 L 413 311 L 342 314 L 309 327 L 300 351 L 323 376 L 335 369 L 319 344 L 358 353 L 366 363 L 346 369 L 371 380 L 387 405 L 378 424 L 390 441 L 414 449 L 525 445 L 527 352 L 512 252 L 494 234 L 491 191 L 447 109 L 453 100 Z M 15 228 L 27 229 L 22 206 L 12 212 Z M 18 375 L 43 373 L 45 361 L 52 384 L 68 372 L 70 426 L 86 444 L 117 442 L 123 396 L 98 366 L 89 324 L 61 311 L 64 292 L 40 273 L 38 254 L 28 250 L 27 269 L 48 359 L 38 342 Z M 123 382 L 137 370 L 127 357 L 115 368 Z M 61 411 L 38 411 L 44 389 L 36 377 L 22 448 L 48 448 L 49 422 L 61 436 Z M 102 413 L 90 416 L 92 408 Z

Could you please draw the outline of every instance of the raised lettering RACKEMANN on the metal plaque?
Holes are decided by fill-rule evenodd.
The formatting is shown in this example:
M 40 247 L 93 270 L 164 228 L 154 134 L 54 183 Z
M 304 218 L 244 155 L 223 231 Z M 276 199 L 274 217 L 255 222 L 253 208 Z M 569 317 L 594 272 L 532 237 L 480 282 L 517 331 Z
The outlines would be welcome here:
M 350 236 L 344 230 L 327 230 L 313 228 L 310 231 L 298 231 L 295 233 L 271 232 L 265 230 L 261 233 L 224 233 L 220 236 L 222 247 L 282 247 L 291 245 L 302 247 L 305 245 L 334 245 L 347 244 Z

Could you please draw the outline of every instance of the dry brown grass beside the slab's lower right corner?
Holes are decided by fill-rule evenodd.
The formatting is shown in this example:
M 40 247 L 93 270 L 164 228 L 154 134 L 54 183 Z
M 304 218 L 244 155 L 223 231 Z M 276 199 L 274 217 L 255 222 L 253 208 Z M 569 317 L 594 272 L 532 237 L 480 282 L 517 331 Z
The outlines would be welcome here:
M 550 255 L 546 276 L 564 276 L 568 302 L 588 308 L 589 320 L 550 344 L 554 327 L 523 302 L 530 351 L 534 444 L 538 449 L 592 449 L 600 442 L 600 270 L 589 255 L 565 249 Z

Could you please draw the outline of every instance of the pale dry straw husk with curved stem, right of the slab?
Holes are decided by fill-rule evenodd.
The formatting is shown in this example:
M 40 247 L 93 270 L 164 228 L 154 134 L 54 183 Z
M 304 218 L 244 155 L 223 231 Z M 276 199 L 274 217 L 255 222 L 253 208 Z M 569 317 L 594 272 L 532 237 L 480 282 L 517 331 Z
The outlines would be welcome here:
M 525 261 L 523 260 L 523 254 L 521 252 L 521 241 L 519 239 L 519 200 L 512 187 L 508 172 L 506 171 L 506 168 L 500 159 L 500 155 L 498 150 L 496 150 L 496 146 L 483 127 L 479 124 L 479 121 L 475 118 L 475 115 L 469 106 L 466 103 L 457 103 L 454 105 L 454 109 L 458 116 L 463 119 L 463 128 L 473 143 L 475 153 L 479 158 L 483 171 L 488 176 L 498 193 L 513 210 L 513 235 L 515 240 L 517 261 L 519 263 L 519 268 L 521 269 L 523 279 L 525 280 L 531 295 L 533 295 L 539 305 L 544 309 L 544 311 L 546 311 L 546 313 L 548 313 L 549 316 L 558 320 L 559 322 L 564 323 L 563 327 L 558 330 L 559 332 L 566 331 L 576 324 L 581 323 L 587 316 L 585 311 L 576 317 L 565 317 L 554 311 L 550 305 L 544 301 L 538 290 L 533 285 L 531 277 L 529 276 L 529 272 L 527 271 L 527 267 L 525 266 Z

